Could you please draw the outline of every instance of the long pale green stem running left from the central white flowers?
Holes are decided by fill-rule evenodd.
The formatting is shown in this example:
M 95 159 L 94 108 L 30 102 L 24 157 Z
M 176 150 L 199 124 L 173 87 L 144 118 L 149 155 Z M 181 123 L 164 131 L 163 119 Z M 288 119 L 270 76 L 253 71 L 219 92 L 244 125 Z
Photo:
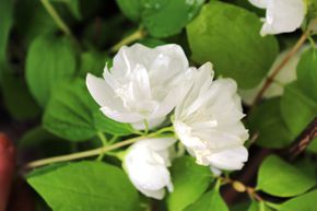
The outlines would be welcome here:
M 137 142 L 139 140 L 142 140 L 142 139 L 156 137 L 158 134 L 160 133 L 157 131 L 157 132 L 153 132 L 153 133 L 151 133 L 149 136 L 145 136 L 145 137 L 136 137 L 136 138 L 132 138 L 132 139 L 128 139 L 126 141 L 121 141 L 121 142 L 115 143 L 113 145 L 106 145 L 106 146 L 97 148 L 97 149 L 94 149 L 94 150 L 72 153 L 72 154 L 68 154 L 68 155 L 54 156 L 54 157 L 49 157 L 49 159 L 38 160 L 38 161 L 34 161 L 34 162 L 28 163 L 26 165 L 26 167 L 27 168 L 34 168 L 34 167 L 39 167 L 39 166 L 51 164 L 51 163 L 73 161 L 73 160 L 95 156 L 95 155 L 98 155 L 98 154 L 104 154 L 104 153 L 106 153 L 108 151 L 111 151 L 111 150 L 119 149 L 119 148 L 125 146 L 125 145 L 129 145 L 129 144 L 134 143 L 134 142 Z M 171 137 L 171 134 L 165 134 L 165 137 Z

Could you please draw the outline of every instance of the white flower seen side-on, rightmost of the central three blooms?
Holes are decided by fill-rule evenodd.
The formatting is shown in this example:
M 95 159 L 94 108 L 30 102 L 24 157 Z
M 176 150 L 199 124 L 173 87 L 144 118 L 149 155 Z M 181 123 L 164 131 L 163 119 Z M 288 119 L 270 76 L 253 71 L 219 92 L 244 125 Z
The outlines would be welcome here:
M 240 121 L 237 85 L 231 79 L 212 79 L 210 62 L 197 70 L 191 90 L 176 106 L 175 131 L 198 164 L 240 169 L 248 157 L 248 131 Z

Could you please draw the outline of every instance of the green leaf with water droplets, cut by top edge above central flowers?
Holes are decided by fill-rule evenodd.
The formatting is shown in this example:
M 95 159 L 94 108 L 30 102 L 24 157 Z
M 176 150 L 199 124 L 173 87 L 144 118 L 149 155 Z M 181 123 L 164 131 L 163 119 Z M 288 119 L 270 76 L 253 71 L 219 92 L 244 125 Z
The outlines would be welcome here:
M 117 3 L 126 16 L 141 20 L 152 36 L 167 37 L 180 33 L 204 0 L 117 0 Z

